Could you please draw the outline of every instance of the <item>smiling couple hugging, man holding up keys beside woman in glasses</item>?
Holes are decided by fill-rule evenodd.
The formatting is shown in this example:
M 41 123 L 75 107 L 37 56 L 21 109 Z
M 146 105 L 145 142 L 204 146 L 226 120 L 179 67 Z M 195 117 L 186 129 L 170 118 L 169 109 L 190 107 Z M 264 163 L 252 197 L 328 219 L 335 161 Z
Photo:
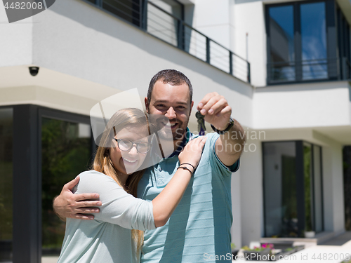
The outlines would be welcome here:
M 239 168 L 235 149 L 244 149 L 244 130 L 227 100 L 208 93 L 197 110 L 215 132 L 193 135 L 187 128 L 193 105 L 183 73 L 166 69 L 152 78 L 145 107 L 168 119 L 173 153 L 148 168 L 143 163 L 162 140 L 151 141 L 150 118 L 133 108 L 112 116 L 92 170 L 65 184 L 54 200 L 55 212 L 67 217 L 58 262 L 210 262 L 204 255 L 231 262 L 225 257 L 231 175 Z

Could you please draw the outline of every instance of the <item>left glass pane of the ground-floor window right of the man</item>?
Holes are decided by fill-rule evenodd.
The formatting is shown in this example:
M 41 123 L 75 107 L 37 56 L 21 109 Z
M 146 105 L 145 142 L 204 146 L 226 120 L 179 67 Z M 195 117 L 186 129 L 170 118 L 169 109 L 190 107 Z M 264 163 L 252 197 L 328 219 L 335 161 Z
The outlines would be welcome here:
M 265 236 L 298 236 L 295 142 L 263 144 Z

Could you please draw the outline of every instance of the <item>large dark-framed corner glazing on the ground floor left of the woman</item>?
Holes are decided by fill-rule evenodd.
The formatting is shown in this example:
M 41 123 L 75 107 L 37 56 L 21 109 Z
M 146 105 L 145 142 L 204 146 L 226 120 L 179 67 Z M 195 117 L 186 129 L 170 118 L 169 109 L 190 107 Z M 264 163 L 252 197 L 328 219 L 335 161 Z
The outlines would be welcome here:
M 88 116 L 33 104 L 0 107 L 0 262 L 57 262 L 65 223 L 52 201 L 88 169 L 89 124 Z

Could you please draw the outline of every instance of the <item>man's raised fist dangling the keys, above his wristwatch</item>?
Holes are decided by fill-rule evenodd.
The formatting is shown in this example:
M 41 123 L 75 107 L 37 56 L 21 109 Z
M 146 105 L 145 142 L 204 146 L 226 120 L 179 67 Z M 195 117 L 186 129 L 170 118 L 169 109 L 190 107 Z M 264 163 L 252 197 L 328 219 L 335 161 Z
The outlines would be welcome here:
M 212 124 L 217 130 L 227 128 L 232 108 L 227 100 L 218 93 L 208 93 L 197 105 L 197 110 L 205 116 L 205 121 Z

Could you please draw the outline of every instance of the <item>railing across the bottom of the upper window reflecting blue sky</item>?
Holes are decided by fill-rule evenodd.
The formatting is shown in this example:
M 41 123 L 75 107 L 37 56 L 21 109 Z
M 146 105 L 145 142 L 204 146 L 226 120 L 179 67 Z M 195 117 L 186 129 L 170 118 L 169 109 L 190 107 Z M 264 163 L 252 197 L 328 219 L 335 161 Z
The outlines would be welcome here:
M 267 64 L 267 83 L 347 80 L 351 77 L 350 60 L 325 58 Z

